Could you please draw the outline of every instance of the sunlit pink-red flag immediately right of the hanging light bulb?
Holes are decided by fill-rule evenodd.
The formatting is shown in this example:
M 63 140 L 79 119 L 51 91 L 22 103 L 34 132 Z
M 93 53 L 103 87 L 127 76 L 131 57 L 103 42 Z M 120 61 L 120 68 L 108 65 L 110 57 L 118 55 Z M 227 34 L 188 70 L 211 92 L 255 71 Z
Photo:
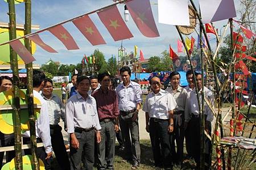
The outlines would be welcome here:
M 131 17 L 146 37 L 159 37 L 158 28 L 152 14 L 150 0 L 134 0 L 126 3 Z

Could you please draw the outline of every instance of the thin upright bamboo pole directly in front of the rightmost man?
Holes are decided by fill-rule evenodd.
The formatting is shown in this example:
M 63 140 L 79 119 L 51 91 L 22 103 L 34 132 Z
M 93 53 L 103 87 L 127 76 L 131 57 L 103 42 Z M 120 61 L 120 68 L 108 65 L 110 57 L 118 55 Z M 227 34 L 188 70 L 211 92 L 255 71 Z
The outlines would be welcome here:
M 204 169 L 205 167 L 205 158 L 204 158 L 204 148 L 205 148 L 205 135 L 204 135 L 204 58 L 203 58 L 204 52 L 203 52 L 203 42 L 202 42 L 202 27 L 200 26 L 200 56 L 201 56 L 201 74 L 202 74 L 202 90 L 201 90 L 201 96 L 202 96 L 202 111 L 200 114 L 200 135 L 201 135 L 201 151 L 200 151 L 200 169 Z M 211 165 L 209 165 L 210 167 Z

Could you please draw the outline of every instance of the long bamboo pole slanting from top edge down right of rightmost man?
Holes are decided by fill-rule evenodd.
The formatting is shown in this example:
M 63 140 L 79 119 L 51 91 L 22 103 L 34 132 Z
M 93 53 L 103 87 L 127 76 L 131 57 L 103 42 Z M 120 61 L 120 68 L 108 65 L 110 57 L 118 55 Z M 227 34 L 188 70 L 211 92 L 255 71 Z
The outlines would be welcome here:
M 199 15 L 199 12 L 197 11 L 197 8 L 196 8 L 193 0 L 190 0 L 190 2 L 191 2 L 192 7 L 195 9 L 197 19 L 199 20 L 200 26 L 202 27 L 202 30 L 203 30 L 203 33 L 204 33 L 205 40 L 207 40 L 208 49 L 210 51 L 210 53 L 209 53 L 210 60 L 211 60 L 210 62 L 212 64 L 212 71 L 213 71 L 213 74 L 214 74 L 214 82 L 215 82 L 215 86 L 216 86 L 216 99 L 217 99 L 218 103 L 220 103 L 220 87 L 218 86 L 217 71 L 216 71 L 216 66 L 215 66 L 214 59 L 213 59 L 212 49 L 210 48 L 210 42 L 208 40 L 207 33 L 206 33 L 205 28 L 203 26 L 203 22 L 201 20 L 201 17 Z M 220 104 L 218 104 L 218 106 L 219 105 Z M 219 123 L 220 123 L 221 138 L 223 138 L 224 133 L 223 133 L 223 126 L 222 126 L 222 116 L 221 116 L 221 114 L 218 114 L 217 117 L 218 117 L 218 119 L 216 121 L 219 121 Z M 224 151 L 224 148 L 221 148 L 221 156 L 222 156 L 222 162 L 223 162 L 223 169 L 225 170 L 225 151 Z

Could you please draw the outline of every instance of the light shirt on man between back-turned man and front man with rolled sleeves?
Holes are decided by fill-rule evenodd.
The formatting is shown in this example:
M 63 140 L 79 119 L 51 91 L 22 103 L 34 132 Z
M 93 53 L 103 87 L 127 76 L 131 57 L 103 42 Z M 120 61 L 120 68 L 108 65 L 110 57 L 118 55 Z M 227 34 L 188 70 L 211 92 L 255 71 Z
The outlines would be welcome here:
M 48 105 L 48 117 L 50 125 L 58 125 L 60 118 L 65 122 L 65 107 L 59 96 L 52 94 L 52 96 L 47 99 L 43 94 L 42 97 L 46 100 Z

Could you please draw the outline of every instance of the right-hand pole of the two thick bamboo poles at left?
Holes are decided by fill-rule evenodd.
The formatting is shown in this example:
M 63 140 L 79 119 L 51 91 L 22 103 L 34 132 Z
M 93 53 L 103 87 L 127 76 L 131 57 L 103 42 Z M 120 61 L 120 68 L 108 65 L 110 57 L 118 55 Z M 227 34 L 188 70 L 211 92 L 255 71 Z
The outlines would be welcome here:
M 31 33 L 31 0 L 25 1 L 25 27 L 24 35 Z M 25 38 L 24 40 L 27 50 L 31 53 L 30 40 Z M 31 141 L 31 154 L 32 165 L 35 170 L 39 169 L 39 162 L 36 158 L 36 130 L 35 130 L 35 113 L 34 113 L 34 99 L 33 99 L 33 68 L 32 62 L 26 64 L 27 69 L 27 100 L 28 100 L 28 115 L 30 124 L 30 141 Z

